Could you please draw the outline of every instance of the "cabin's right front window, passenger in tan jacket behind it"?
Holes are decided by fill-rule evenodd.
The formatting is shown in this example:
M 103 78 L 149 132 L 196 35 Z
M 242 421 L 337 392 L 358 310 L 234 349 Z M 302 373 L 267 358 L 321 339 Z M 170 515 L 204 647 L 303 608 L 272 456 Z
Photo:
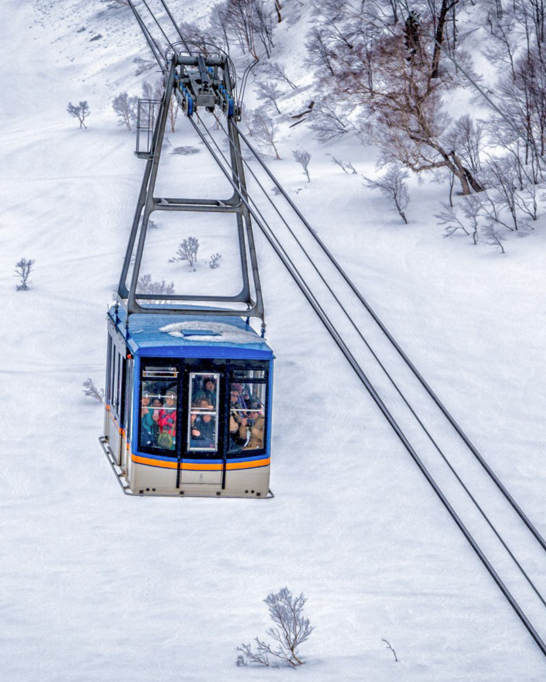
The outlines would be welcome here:
M 233 370 L 229 384 L 229 449 L 265 448 L 267 383 L 264 370 Z

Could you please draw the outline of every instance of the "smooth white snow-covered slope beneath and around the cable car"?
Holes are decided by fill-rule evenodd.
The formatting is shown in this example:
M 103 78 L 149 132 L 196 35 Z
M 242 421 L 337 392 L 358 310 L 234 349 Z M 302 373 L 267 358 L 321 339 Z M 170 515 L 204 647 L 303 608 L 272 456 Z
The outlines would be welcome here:
M 199 18 L 212 3 L 172 4 Z M 106 305 L 143 170 L 110 102 L 139 92 L 132 59 L 148 55 L 134 21 L 103 3 L 3 9 L 3 679 L 544 679 L 530 636 L 259 235 L 277 357 L 276 498 L 120 494 L 97 442 L 101 406 L 81 384 L 103 383 Z M 279 27 L 279 58 L 297 59 L 304 30 L 303 19 Z M 297 111 L 306 97 L 291 96 Z M 82 99 L 85 131 L 66 114 Z M 177 145 L 200 151 L 168 156 L 165 181 L 209 191 L 197 179 L 205 150 L 184 123 Z M 437 186 L 414 183 L 403 226 L 328 156 L 369 175 L 373 150 L 350 138 L 319 146 L 304 125 L 282 130 L 274 173 L 545 533 L 544 218 L 500 256 L 444 239 L 431 217 Z M 298 147 L 312 154 L 311 183 L 291 158 Z M 210 248 L 229 256 L 220 232 Z M 30 291 L 17 292 L 23 256 L 35 268 Z M 162 265 L 154 278 L 171 277 Z M 227 263 L 201 267 L 194 281 L 229 281 Z M 546 581 L 544 565 L 534 572 Z M 308 597 L 306 664 L 236 668 L 233 648 L 263 634 L 261 599 L 284 584 Z

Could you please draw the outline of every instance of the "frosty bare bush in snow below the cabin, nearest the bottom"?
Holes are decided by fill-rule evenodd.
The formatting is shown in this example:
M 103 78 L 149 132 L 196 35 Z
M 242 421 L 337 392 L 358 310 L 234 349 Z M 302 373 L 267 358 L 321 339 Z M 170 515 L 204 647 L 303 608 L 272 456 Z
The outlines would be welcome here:
M 278 668 L 281 663 L 291 668 L 301 666 L 303 661 L 298 657 L 298 647 L 313 632 L 309 619 L 303 615 L 306 598 L 303 593 L 293 597 L 287 587 L 282 587 L 278 592 L 268 594 L 263 601 L 268 605 L 270 617 L 276 625 L 267 630 L 273 642 L 255 637 L 255 649 L 252 644 L 235 647 L 235 651 L 240 651 L 235 664 L 246 666 L 248 663 L 257 663 L 272 668 Z

